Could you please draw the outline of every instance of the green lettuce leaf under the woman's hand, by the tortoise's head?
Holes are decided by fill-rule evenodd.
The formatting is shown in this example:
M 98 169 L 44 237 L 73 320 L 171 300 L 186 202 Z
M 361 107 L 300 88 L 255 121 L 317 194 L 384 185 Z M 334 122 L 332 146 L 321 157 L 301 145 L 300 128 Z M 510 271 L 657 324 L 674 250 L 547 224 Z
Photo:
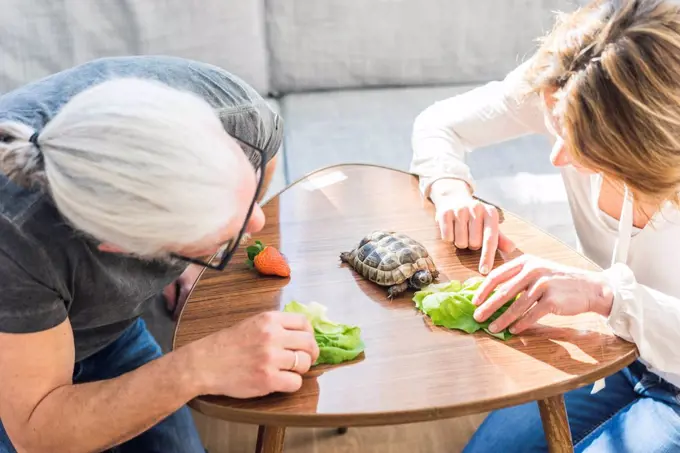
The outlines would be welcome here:
M 506 302 L 486 321 L 479 323 L 473 317 L 477 308 L 472 299 L 479 286 L 484 281 L 481 277 L 472 277 L 464 282 L 452 280 L 443 283 L 433 283 L 413 295 L 416 308 L 432 319 L 436 326 L 448 329 L 458 329 L 467 333 L 483 330 L 489 335 L 501 340 L 508 340 L 512 334 L 508 329 L 492 333 L 489 325 L 508 309 L 517 297 Z M 493 294 L 493 293 L 492 293 Z

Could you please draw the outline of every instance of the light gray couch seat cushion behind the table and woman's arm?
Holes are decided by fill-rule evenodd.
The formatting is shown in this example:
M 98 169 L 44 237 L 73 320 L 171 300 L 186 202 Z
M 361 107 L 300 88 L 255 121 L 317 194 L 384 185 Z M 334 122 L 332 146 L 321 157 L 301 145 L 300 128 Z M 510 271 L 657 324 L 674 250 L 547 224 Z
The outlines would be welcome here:
M 288 182 L 347 162 L 408 171 L 411 127 L 431 103 L 471 88 L 394 88 L 289 95 L 283 99 Z M 544 137 L 526 136 L 468 155 L 477 195 L 571 245 L 575 236 L 559 172 Z M 537 185 L 532 188 L 532 185 Z

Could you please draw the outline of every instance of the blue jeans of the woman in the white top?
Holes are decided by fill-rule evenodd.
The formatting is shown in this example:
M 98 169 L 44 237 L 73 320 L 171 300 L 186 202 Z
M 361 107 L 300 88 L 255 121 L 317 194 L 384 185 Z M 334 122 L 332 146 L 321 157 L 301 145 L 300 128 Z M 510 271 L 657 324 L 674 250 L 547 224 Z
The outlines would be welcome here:
M 592 385 L 565 394 L 577 453 L 670 453 L 680 451 L 680 389 L 640 362 Z M 464 453 L 547 452 L 537 403 L 492 412 Z

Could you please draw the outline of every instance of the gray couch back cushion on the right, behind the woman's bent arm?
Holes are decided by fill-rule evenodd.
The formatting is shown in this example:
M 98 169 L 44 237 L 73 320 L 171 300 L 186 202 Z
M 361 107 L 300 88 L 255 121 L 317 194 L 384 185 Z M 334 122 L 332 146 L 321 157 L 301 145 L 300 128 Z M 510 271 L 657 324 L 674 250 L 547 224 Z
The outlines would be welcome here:
M 287 92 L 498 78 L 534 48 L 553 11 L 573 3 L 269 0 L 272 85 Z

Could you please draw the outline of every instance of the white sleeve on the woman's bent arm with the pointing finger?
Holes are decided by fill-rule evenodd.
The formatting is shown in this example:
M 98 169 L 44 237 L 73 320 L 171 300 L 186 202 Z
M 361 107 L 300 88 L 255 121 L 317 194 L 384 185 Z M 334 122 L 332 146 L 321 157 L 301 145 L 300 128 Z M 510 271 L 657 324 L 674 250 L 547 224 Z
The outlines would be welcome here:
M 429 197 L 437 179 L 456 178 L 474 190 L 465 152 L 532 133 L 547 134 L 537 95 L 519 102 L 517 92 L 529 62 L 494 81 L 423 110 L 413 124 L 411 173 Z

